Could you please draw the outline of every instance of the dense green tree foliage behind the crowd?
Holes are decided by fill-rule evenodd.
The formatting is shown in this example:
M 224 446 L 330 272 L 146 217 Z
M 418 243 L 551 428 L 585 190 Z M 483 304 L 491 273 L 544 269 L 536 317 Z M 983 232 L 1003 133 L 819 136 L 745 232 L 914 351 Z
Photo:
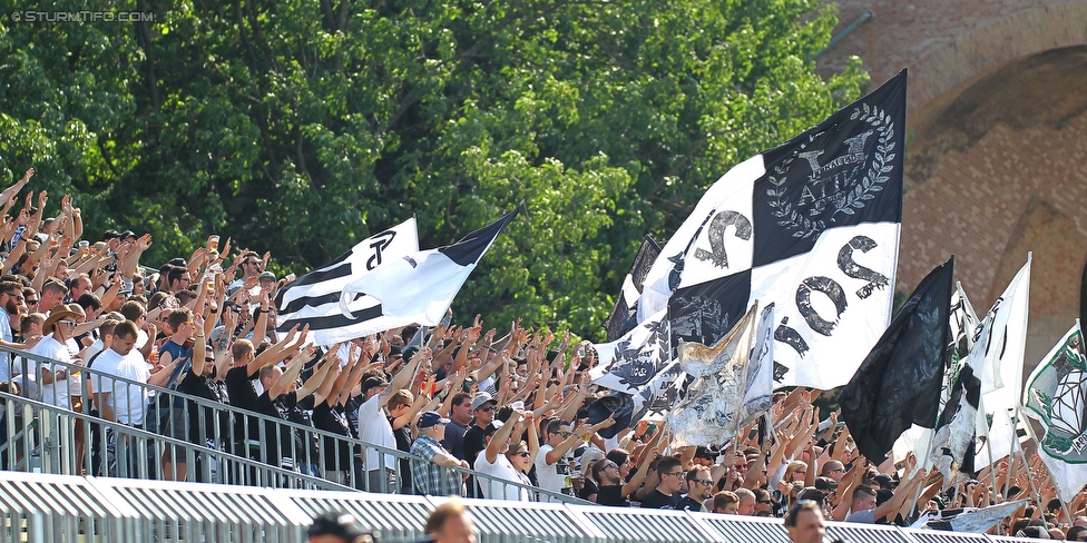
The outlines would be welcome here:
M 644 234 L 866 83 L 814 75 L 815 0 L 118 3 L 82 9 L 154 20 L 0 27 L 9 179 L 35 166 L 91 233 L 150 231 L 150 263 L 222 233 L 298 273 L 525 199 L 454 308 L 588 337 Z

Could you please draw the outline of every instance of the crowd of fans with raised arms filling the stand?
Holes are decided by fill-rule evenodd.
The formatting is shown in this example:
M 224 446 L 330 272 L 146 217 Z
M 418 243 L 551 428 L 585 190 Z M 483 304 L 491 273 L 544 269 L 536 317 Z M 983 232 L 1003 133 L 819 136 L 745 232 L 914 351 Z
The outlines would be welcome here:
M 731 443 L 674 448 L 664 418 L 605 433 L 610 437 L 601 431 L 616 424 L 613 418 L 585 418 L 586 405 L 608 392 L 590 383 L 591 345 L 569 334 L 555 337 L 519 323 L 484 330 L 477 316 L 471 325 L 407 326 L 323 352 L 305 344 L 305 329 L 277 337 L 271 300 L 287 279 L 265 272 L 267 253 L 234 255 L 229 239 L 221 247 L 212 236 L 193 254 L 147 268 L 140 256 L 149 235 L 107 230 L 81 241 L 90 236 L 68 197 L 49 216 L 46 192 L 35 199 L 28 191 L 11 218 L 31 176 L 0 192 L 2 344 L 216 402 L 233 416 L 156 403 L 146 389 L 108 378 L 85 384 L 79 372 L 48 363 L 31 361 L 22 375 L 8 353 L 0 354 L 6 391 L 25 389 L 43 403 L 150 432 L 178 435 L 184 427 L 180 435 L 192 443 L 242 457 L 257 457 L 254 451 L 264 447 L 258 457 L 271 464 L 398 493 L 513 501 L 547 501 L 555 493 L 603 506 L 752 516 L 784 516 L 813 503 L 794 510 L 794 526 L 805 511 L 903 524 L 923 511 L 1027 498 L 993 531 L 1087 539 L 1080 516 L 1087 498 L 1057 501 L 1037 455 L 1003 458 L 976 478 L 952 482 L 919 467 L 912 455 L 873 465 L 858 455 L 836 413 L 821 421 L 817 391 L 777 393 L 772 428 L 752 426 Z M 360 455 L 350 442 L 327 438 L 268 445 L 259 419 L 246 413 L 410 458 L 374 448 Z M 225 435 L 234 437 L 209 442 Z M 77 443 L 86 441 L 77 435 Z M 298 446 L 322 458 L 320 468 L 287 462 Z M 72 454 L 81 458 L 88 451 L 80 445 Z M 457 467 L 512 484 L 482 484 Z M 158 476 L 194 478 L 168 453 Z

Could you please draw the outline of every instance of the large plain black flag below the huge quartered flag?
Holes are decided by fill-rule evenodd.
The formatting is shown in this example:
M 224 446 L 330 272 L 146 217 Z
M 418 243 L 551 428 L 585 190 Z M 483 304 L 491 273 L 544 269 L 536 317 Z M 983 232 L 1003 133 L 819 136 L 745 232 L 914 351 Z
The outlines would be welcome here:
M 936 425 L 951 335 L 953 270 L 952 256 L 918 285 L 842 389 L 842 418 L 856 448 L 877 464 L 912 424 Z

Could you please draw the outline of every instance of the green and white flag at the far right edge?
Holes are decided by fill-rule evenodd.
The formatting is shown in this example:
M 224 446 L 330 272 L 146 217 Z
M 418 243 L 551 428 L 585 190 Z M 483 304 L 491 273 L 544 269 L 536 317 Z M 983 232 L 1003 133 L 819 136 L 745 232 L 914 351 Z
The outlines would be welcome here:
M 1022 403 L 1041 423 L 1041 460 L 1060 500 L 1070 502 L 1087 484 L 1087 358 L 1079 319 L 1027 378 Z

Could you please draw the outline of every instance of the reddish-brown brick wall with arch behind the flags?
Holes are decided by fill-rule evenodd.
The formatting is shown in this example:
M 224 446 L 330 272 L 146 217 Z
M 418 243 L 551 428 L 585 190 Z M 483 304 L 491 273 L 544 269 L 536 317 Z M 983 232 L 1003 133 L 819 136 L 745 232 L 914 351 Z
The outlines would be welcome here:
M 986 115 L 996 118 L 954 115 L 964 115 L 966 96 L 982 101 L 979 91 L 995 72 L 1087 45 L 1087 0 L 836 3 L 836 31 L 864 11 L 874 17 L 819 58 L 821 73 L 841 70 L 853 55 L 873 83 L 910 69 L 907 164 L 915 175 L 907 178 L 897 289 L 912 290 L 953 253 L 959 279 L 983 312 L 1032 251 L 1026 375 L 1079 313 L 1087 263 L 1087 69 L 1008 93 L 1005 117 L 999 103 L 987 105 Z M 1070 96 L 1054 107 L 1062 108 L 1059 115 L 1050 113 L 1054 96 Z M 1026 113 L 1017 108 L 1037 102 L 1046 103 Z M 1035 115 L 1037 122 L 1024 119 Z M 962 122 L 983 126 L 949 137 Z

